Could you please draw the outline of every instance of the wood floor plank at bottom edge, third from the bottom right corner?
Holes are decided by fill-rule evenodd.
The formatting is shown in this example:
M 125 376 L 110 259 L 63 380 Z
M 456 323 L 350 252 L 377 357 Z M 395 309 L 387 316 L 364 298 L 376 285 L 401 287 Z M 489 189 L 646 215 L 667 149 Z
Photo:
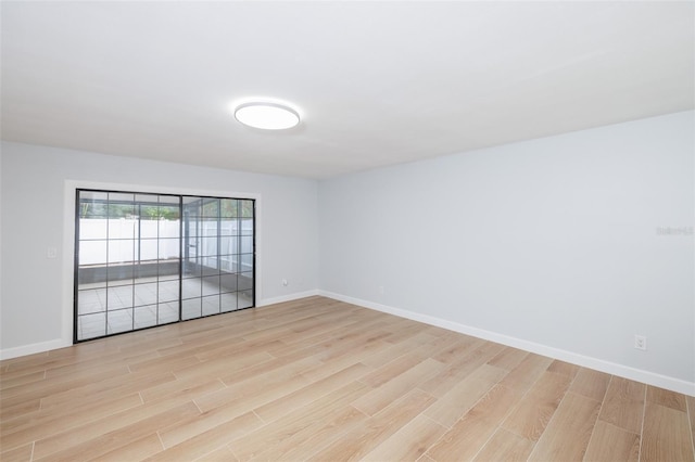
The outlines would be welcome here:
M 567 393 L 529 457 L 530 461 L 581 461 L 598 418 L 601 402 Z

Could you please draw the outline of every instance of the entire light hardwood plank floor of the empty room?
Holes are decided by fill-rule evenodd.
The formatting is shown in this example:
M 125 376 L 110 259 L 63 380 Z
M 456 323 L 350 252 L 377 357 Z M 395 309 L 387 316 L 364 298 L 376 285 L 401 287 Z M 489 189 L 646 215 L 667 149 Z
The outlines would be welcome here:
M 695 458 L 695 398 L 321 297 L 0 372 L 2 462 Z

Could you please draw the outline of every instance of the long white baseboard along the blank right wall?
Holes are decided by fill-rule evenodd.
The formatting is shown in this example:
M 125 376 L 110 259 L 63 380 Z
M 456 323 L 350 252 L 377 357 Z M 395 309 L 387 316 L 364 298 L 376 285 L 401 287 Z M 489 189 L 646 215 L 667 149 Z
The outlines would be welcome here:
M 629 365 L 618 364 L 616 362 L 604 361 L 603 359 L 592 358 L 592 357 L 579 355 L 572 351 L 549 347 L 547 345 L 536 344 L 536 343 L 525 341 L 521 338 L 498 334 L 496 332 L 471 328 L 469 325 L 459 324 L 457 322 L 447 321 L 445 319 L 435 318 L 428 315 L 421 315 L 418 312 L 408 311 L 400 308 L 393 308 L 387 305 L 363 300 L 359 298 L 354 298 L 354 297 L 350 297 L 342 294 L 336 294 L 327 291 L 318 291 L 318 294 L 328 298 L 333 298 L 333 299 L 345 301 L 352 305 L 357 305 L 364 308 L 387 312 L 389 315 L 394 315 L 401 318 L 412 319 L 413 321 L 424 322 L 426 324 L 443 328 L 454 332 L 459 332 L 462 334 L 470 335 L 478 338 L 483 338 L 485 341 L 498 343 L 498 344 L 510 346 L 514 348 L 519 348 L 525 351 L 531 351 L 536 355 L 546 356 L 553 359 L 559 359 L 560 361 L 571 362 L 572 364 L 581 365 L 583 368 L 589 368 L 589 369 L 605 372 L 608 374 L 618 375 L 620 377 L 630 378 L 636 382 L 642 382 L 642 383 L 654 385 L 660 388 L 670 389 L 672 392 L 695 396 L 695 382 L 687 382 L 681 378 L 670 377 L 667 375 L 661 375 L 654 372 L 631 368 Z

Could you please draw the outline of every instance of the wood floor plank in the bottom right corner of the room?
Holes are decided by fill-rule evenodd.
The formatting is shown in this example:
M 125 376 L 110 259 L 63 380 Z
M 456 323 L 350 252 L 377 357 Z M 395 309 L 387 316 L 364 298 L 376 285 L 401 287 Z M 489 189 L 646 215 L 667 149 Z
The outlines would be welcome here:
M 685 412 L 647 401 L 640 460 L 644 462 L 695 460 L 690 422 Z

